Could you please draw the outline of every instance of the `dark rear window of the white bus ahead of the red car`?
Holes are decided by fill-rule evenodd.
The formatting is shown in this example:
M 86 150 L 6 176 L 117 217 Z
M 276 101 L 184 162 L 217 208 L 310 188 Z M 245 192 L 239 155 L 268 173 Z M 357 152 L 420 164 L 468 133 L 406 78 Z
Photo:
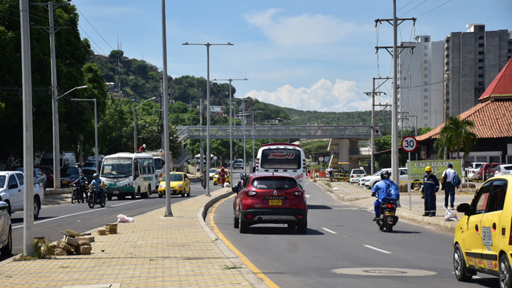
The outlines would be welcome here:
M 297 149 L 265 149 L 260 161 L 262 169 L 300 169 L 301 152 Z

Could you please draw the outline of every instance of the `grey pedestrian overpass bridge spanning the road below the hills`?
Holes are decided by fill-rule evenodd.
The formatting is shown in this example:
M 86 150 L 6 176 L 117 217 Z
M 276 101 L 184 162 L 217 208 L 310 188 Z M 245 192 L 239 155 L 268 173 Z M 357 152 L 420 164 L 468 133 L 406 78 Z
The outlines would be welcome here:
M 332 126 L 232 126 L 233 139 L 329 139 L 331 152 L 329 166 L 338 168 L 338 162 L 349 162 L 343 169 L 358 168 L 360 159 L 370 158 L 371 149 L 361 149 L 359 141 L 371 139 L 370 125 Z M 206 126 L 178 126 L 178 139 L 206 139 Z M 380 127 L 375 127 L 375 138 L 380 138 Z M 210 126 L 210 139 L 230 139 L 229 126 Z

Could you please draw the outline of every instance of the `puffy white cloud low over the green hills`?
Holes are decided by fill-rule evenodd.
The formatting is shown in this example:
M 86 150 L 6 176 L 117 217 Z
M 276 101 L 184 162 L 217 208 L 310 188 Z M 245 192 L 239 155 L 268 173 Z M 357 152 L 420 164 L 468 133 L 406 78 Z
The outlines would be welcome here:
M 274 92 L 252 90 L 247 92 L 245 97 L 298 110 L 323 112 L 371 110 L 371 100 L 358 89 L 356 82 L 340 79 L 334 84 L 322 79 L 309 88 L 284 85 Z

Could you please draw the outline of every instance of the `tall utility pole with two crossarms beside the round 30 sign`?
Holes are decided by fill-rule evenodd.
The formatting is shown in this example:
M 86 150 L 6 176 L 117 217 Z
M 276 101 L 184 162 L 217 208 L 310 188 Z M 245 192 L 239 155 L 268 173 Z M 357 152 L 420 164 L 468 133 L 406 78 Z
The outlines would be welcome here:
M 390 46 L 375 46 L 375 49 L 378 50 L 380 48 L 384 48 L 393 56 L 393 110 L 392 110 L 392 121 L 391 121 L 391 178 L 395 183 L 398 183 L 399 180 L 399 169 L 398 169 L 398 87 L 397 87 L 397 75 L 398 75 L 398 48 L 405 49 L 411 48 L 414 49 L 414 46 L 400 46 L 397 47 L 397 38 L 398 38 L 398 25 L 403 23 L 403 21 L 412 20 L 416 23 L 416 18 L 401 18 L 398 19 L 396 16 L 396 0 L 393 0 L 393 19 L 376 19 L 375 27 L 378 23 L 382 23 L 382 21 L 388 22 L 393 26 L 393 47 Z M 400 21 L 400 23 L 398 23 Z M 393 49 L 393 51 L 390 51 Z M 402 51 L 400 50 L 400 52 Z

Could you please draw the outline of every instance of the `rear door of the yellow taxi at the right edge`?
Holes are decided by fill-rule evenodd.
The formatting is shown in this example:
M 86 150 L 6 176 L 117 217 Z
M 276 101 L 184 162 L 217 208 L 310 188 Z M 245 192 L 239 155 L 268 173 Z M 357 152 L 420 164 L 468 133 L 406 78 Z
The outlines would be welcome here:
M 486 213 L 484 213 L 481 220 L 482 260 L 484 261 L 484 268 L 498 271 L 499 252 L 508 249 L 511 220 L 510 217 L 502 217 L 507 181 L 496 179 L 489 181 L 489 183 L 492 183 L 491 192 L 486 205 Z M 501 223 L 502 219 L 503 223 Z

